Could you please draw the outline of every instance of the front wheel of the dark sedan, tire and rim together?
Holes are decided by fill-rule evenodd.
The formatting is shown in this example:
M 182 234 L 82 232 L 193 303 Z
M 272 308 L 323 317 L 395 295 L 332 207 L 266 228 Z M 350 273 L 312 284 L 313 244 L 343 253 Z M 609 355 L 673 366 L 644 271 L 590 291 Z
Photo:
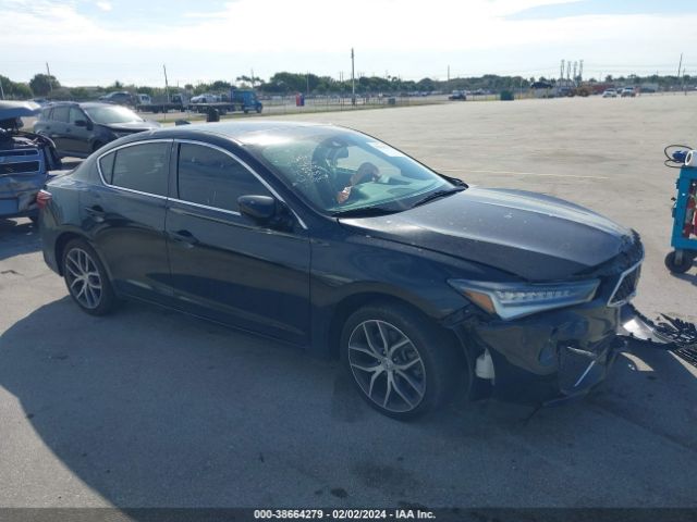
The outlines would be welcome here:
M 344 324 L 341 350 L 360 396 L 394 419 L 438 409 L 456 384 L 457 357 L 448 336 L 403 304 L 357 310 Z

